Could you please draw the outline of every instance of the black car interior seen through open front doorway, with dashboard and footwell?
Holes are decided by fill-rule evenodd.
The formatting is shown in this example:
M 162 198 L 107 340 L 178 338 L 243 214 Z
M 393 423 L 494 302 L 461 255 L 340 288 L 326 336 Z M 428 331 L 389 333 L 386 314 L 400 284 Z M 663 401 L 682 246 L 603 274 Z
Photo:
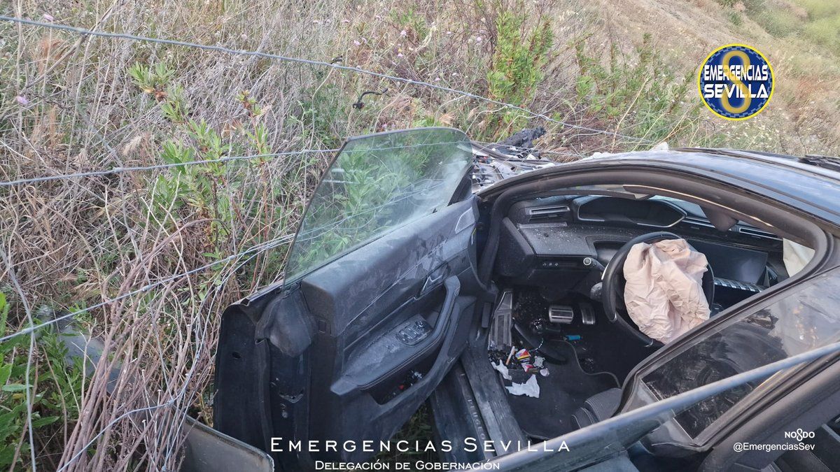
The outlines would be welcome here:
M 499 296 L 487 351 L 528 439 L 611 417 L 627 375 L 663 346 L 627 316 L 621 270 L 634 244 L 663 239 L 685 239 L 705 254 L 701 286 L 710 317 L 785 281 L 789 270 L 806 264 L 797 265 L 796 256 L 809 254 L 774 233 L 672 197 L 602 186 L 516 202 L 501 221 L 492 272 Z M 537 396 L 522 394 L 532 377 Z M 717 379 L 703 383 L 711 380 Z

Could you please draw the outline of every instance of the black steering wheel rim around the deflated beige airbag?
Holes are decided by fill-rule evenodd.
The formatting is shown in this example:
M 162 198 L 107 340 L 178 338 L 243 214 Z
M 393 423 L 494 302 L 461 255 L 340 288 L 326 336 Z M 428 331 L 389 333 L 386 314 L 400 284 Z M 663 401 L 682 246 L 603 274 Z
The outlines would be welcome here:
M 648 346 L 653 345 L 656 341 L 648 338 L 648 336 L 638 330 L 638 327 L 627 315 L 627 307 L 624 305 L 624 285 L 627 283 L 624 279 L 624 262 L 627 261 L 627 254 L 630 253 L 630 249 L 634 245 L 639 243 L 654 244 L 664 239 L 681 238 L 675 233 L 659 231 L 656 233 L 642 234 L 641 236 L 630 239 L 612 256 L 610 263 L 606 265 L 602 277 L 601 301 L 604 303 L 606 319 L 611 323 L 617 323 L 621 328 L 625 328 L 628 333 L 633 334 L 639 341 Z M 703 293 L 706 295 L 706 301 L 709 302 L 709 307 L 711 307 L 711 302 L 715 298 L 715 276 L 711 272 L 711 266 L 707 266 L 706 269 L 706 272 L 703 274 L 702 286 Z

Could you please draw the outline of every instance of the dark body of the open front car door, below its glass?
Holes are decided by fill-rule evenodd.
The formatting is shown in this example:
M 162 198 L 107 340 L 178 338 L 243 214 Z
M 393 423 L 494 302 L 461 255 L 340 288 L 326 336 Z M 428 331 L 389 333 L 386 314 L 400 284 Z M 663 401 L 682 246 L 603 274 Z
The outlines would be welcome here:
M 270 438 L 390 438 L 465 347 L 482 290 L 475 272 L 477 211 L 469 197 L 344 254 L 294 286 L 228 308 L 217 354 L 215 426 L 265 450 Z M 295 469 L 369 455 L 360 448 L 284 450 L 276 459 Z

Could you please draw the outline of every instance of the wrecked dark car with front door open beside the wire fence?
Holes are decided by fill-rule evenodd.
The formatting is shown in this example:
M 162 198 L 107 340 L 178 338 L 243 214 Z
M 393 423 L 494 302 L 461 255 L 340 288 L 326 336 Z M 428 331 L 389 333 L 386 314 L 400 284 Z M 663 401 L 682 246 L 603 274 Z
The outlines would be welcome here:
M 837 161 L 536 157 L 450 128 L 349 139 L 284 281 L 223 313 L 213 426 L 277 470 L 368 460 L 426 401 L 459 464 L 838 464 Z M 733 447 L 791 431 L 818 447 Z

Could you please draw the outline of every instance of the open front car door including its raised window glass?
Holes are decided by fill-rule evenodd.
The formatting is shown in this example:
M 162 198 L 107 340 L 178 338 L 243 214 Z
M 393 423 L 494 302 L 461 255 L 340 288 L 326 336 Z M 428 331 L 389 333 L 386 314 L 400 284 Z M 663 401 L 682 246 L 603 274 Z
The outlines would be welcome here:
M 449 128 L 344 144 L 285 282 L 223 313 L 214 427 L 272 452 L 277 469 L 380 450 L 458 358 L 484 292 L 471 165 L 470 141 Z

